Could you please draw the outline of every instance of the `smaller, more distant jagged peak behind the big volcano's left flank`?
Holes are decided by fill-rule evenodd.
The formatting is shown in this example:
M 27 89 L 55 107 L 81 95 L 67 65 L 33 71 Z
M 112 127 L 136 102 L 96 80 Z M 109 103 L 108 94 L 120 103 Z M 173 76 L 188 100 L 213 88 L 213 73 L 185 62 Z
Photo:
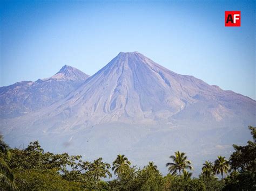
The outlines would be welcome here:
M 22 81 L 0 88 L 0 118 L 24 115 L 64 98 L 82 84 L 89 75 L 71 66 L 35 82 Z

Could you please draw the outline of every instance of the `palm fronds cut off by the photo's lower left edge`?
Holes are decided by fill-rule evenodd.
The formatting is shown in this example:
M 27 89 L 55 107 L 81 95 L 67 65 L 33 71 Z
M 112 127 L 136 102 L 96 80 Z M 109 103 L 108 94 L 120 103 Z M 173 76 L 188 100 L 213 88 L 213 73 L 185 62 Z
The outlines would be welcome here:
M 4 143 L 3 136 L 0 135 L 0 182 L 4 183 L 10 190 L 15 190 L 14 174 L 4 160 L 9 158 L 9 146 Z

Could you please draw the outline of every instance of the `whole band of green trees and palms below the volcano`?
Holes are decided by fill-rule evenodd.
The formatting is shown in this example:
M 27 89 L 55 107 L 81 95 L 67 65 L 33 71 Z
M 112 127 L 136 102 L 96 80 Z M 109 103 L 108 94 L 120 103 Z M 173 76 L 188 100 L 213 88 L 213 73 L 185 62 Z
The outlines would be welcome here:
M 256 190 L 256 127 L 248 129 L 253 140 L 233 145 L 230 159 L 205 161 L 198 178 L 191 178 L 192 161 L 180 151 L 171 153 L 170 173 L 163 176 L 154 162 L 138 168 L 121 154 L 112 165 L 102 158 L 83 161 L 80 155 L 44 152 L 38 142 L 12 149 L 1 136 L 0 190 Z

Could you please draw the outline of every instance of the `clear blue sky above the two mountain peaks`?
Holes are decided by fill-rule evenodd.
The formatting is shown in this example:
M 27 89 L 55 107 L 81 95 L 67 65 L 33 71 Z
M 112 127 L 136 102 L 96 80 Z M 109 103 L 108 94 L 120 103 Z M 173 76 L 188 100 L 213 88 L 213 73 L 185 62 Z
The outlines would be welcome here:
M 224 12 L 241 11 L 241 27 Z M 1 1 L 0 86 L 63 65 L 92 75 L 138 51 L 179 74 L 256 99 L 255 1 Z

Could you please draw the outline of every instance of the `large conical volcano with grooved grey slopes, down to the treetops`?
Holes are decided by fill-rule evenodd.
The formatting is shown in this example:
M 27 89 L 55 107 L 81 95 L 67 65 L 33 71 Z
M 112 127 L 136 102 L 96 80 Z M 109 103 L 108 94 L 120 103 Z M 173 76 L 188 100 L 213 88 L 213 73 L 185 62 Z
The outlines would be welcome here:
M 142 167 L 156 161 L 162 172 L 180 150 L 200 171 L 204 160 L 246 143 L 255 108 L 249 97 L 121 52 L 66 97 L 0 125 L 11 146 L 38 139 L 48 150 L 107 162 L 121 153 Z

